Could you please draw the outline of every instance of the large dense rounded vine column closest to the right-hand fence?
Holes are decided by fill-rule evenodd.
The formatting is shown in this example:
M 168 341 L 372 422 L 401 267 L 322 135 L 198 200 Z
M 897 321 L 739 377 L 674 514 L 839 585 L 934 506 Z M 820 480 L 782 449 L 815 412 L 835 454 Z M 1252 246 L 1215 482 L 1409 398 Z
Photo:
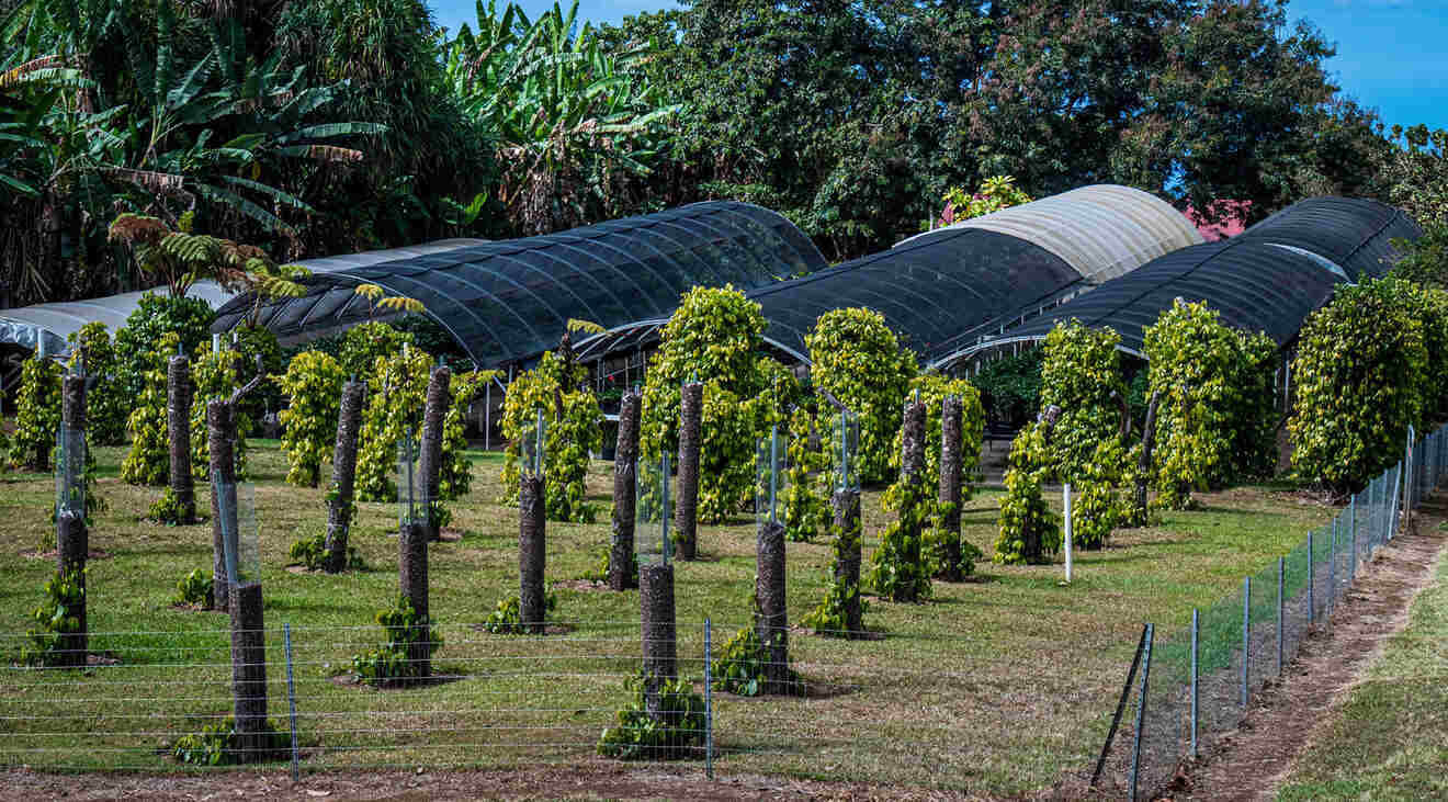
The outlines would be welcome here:
M 1347 494 L 1403 456 L 1429 375 L 1423 321 L 1407 291 L 1397 278 L 1341 285 L 1303 324 L 1287 420 L 1300 479 Z

